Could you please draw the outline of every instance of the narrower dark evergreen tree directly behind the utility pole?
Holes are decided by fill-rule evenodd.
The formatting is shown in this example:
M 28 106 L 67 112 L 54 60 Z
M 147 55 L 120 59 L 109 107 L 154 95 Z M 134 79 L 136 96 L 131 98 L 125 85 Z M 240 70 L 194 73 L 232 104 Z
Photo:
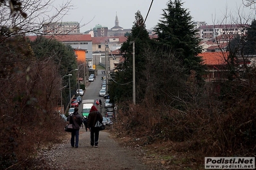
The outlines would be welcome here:
M 145 69 L 145 58 L 143 52 L 149 45 L 150 38 L 141 12 L 135 13 L 135 21 L 132 26 L 132 33 L 128 35 L 127 41 L 123 43 L 120 51 L 125 58 L 123 65 L 119 66 L 119 72 L 115 75 L 116 84 L 110 87 L 110 97 L 122 101 L 132 100 L 132 81 L 133 81 L 133 42 L 135 42 L 135 75 L 136 75 L 136 97 L 139 102 L 144 97 L 144 84 L 139 83 L 139 79 L 144 79 L 142 70 Z M 123 84 L 123 85 L 122 85 Z

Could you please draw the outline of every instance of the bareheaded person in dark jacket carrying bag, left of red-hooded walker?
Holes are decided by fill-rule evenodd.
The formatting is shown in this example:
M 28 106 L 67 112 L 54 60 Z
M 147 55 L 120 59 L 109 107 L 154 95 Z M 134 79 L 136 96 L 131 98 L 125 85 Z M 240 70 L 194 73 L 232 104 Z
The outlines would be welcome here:
M 83 118 L 78 114 L 78 107 L 74 108 L 74 112 L 71 113 L 67 117 L 67 121 L 73 125 L 73 131 L 71 132 L 71 146 L 78 148 L 78 141 L 79 141 L 79 130 L 81 127 L 81 123 L 83 123 Z M 76 143 L 74 143 L 74 137 L 76 136 Z

